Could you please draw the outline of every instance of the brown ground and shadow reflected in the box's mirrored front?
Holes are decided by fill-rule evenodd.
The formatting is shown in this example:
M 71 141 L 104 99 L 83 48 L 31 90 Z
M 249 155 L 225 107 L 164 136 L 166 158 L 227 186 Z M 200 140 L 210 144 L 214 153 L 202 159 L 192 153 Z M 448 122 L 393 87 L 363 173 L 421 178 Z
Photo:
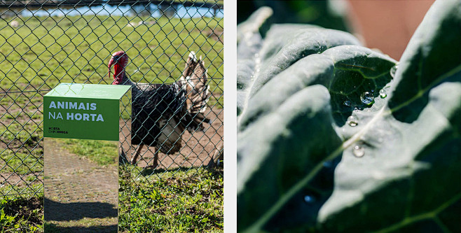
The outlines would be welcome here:
M 102 167 L 46 139 L 45 167 L 45 221 L 53 230 L 116 232 L 118 164 Z

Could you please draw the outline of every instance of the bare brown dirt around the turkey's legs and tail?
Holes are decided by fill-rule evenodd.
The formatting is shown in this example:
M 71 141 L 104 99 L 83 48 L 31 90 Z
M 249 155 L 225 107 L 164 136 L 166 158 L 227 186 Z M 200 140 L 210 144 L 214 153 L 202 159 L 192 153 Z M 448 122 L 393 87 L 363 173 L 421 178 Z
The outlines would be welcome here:
M 223 141 L 223 109 L 208 108 L 205 115 L 212 120 L 212 123 L 205 123 L 203 132 L 193 132 L 193 134 L 188 131 L 184 132 L 182 135 L 182 148 L 178 153 L 167 155 L 157 151 L 153 146 L 144 146 L 139 153 L 137 166 L 147 167 L 152 165 L 155 153 L 158 153 L 159 164 L 157 169 L 206 166 Z M 123 134 L 128 135 L 128 129 L 124 129 Z M 123 141 L 124 139 L 121 140 Z M 135 146 L 131 151 L 135 153 Z M 131 160 L 131 157 L 132 155 L 128 155 L 128 160 Z

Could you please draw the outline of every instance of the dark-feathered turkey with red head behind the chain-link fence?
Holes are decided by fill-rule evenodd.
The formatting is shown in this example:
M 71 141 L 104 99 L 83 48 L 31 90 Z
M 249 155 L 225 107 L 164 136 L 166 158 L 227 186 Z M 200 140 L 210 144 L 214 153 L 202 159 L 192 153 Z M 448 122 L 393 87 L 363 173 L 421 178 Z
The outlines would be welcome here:
M 203 114 L 210 96 L 207 69 L 202 57 L 195 52 L 188 55 L 182 76 L 172 84 L 133 83 L 125 73 L 128 55 L 115 52 L 109 61 L 109 77 L 113 66 L 113 85 L 132 86 L 131 143 L 139 145 L 130 160 L 135 164 L 144 145 L 153 146 L 165 154 L 181 149 L 181 135 L 185 129 L 193 133 L 202 130 L 202 122 L 210 123 Z M 158 151 L 154 151 L 153 165 L 158 166 Z

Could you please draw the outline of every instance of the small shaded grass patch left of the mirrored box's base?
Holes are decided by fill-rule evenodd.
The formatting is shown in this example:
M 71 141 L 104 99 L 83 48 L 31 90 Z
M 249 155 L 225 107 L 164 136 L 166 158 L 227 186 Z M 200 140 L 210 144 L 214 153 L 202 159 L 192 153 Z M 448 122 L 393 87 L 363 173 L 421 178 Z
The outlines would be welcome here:
M 0 232 L 43 232 L 43 194 L 0 198 Z

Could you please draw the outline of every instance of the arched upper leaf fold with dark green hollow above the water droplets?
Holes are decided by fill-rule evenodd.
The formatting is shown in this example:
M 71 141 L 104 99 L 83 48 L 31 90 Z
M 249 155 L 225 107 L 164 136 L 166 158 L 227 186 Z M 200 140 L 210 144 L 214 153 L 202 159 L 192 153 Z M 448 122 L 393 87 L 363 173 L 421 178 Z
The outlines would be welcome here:
M 333 118 L 338 125 L 344 125 L 355 107 L 368 107 L 360 100 L 362 93 L 373 91 L 373 96 L 378 97 L 379 90 L 390 81 L 389 71 L 394 65 L 390 57 L 357 45 L 341 45 L 304 57 L 248 100 L 240 116 L 239 129 L 245 130 L 261 115 L 274 111 L 291 94 L 315 84 L 329 89 Z M 344 101 L 350 101 L 350 106 L 344 106 Z

